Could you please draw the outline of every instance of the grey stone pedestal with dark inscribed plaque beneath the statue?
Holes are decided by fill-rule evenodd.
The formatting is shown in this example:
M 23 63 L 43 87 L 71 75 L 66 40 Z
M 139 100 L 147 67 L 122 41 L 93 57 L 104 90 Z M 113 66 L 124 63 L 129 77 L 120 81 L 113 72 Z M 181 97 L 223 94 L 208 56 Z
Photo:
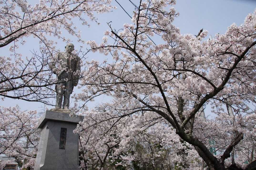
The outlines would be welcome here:
M 79 170 L 78 134 L 74 134 L 83 116 L 49 111 L 40 118 L 42 129 L 34 170 Z

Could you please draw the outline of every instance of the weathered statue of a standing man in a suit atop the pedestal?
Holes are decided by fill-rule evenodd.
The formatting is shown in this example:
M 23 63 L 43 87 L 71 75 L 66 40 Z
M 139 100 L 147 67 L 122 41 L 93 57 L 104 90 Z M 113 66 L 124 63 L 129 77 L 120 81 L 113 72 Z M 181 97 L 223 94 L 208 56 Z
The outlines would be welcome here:
M 59 84 L 56 84 L 55 90 L 57 93 L 55 108 L 61 109 L 62 98 L 63 109 L 69 108 L 70 94 L 73 92 L 74 86 L 77 86 L 79 81 L 79 73 L 81 71 L 80 58 L 73 54 L 74 45 L 68 43 L 65 47 L 65 52 L 58 54 L 58 62 L 60 64 L 60 71 L 54 71 L 57 75 Z M 54 66 L 56 68 L 56 66 Z

